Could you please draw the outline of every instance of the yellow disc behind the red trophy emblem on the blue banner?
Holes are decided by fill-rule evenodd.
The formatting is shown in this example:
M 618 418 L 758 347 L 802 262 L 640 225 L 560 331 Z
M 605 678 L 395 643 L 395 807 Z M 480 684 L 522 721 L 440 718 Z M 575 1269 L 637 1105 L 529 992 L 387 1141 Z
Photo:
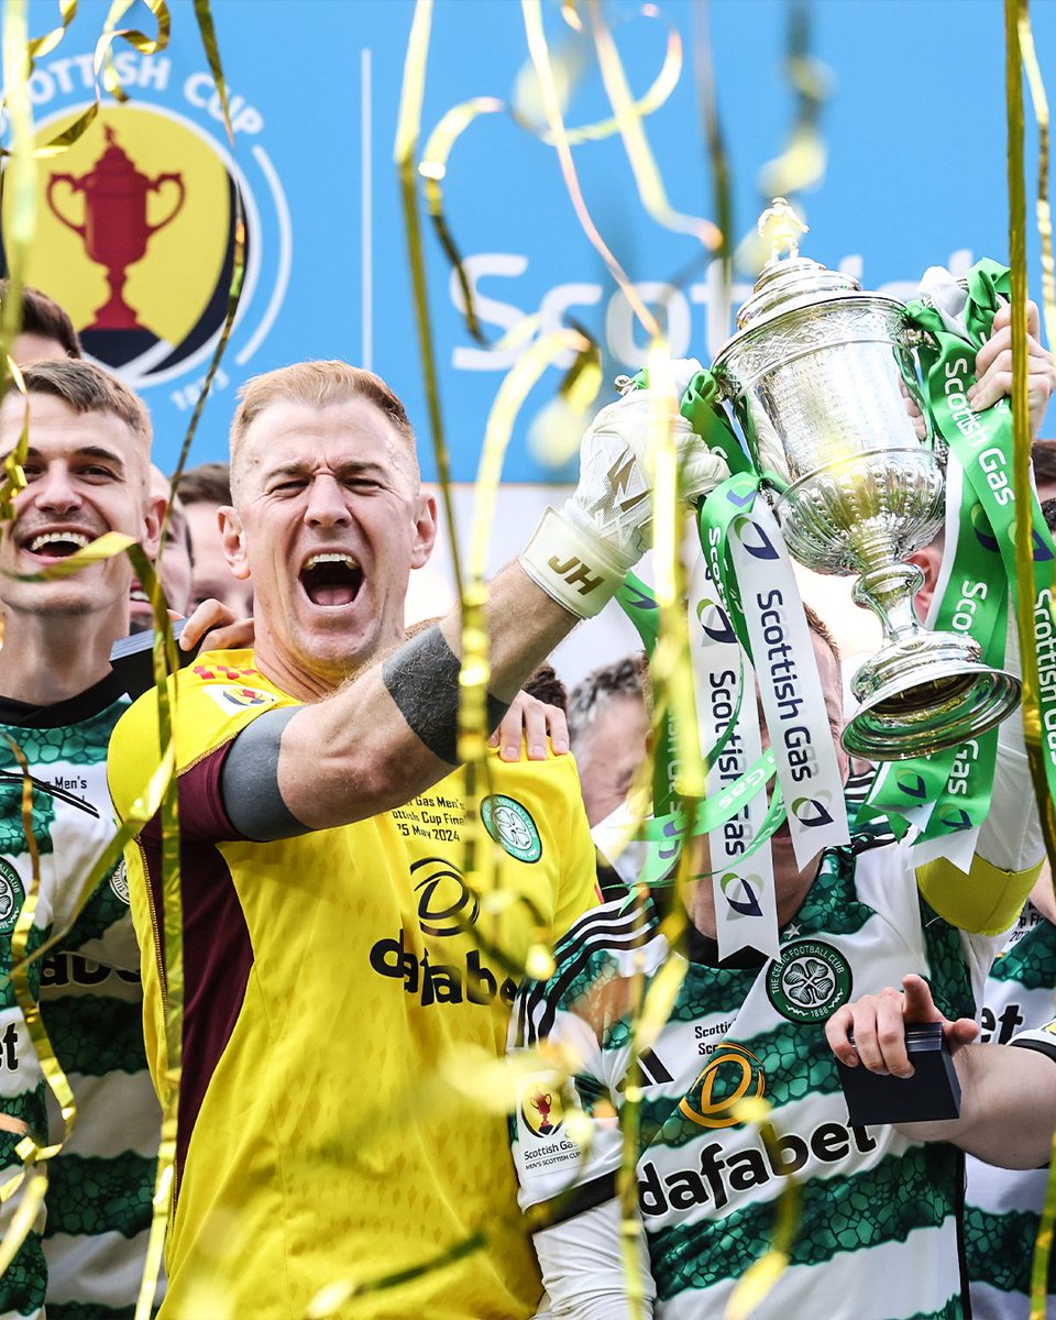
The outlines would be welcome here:
M 62 127 L 53 120 L 38 141 Z M 128 327 L 180 345 L 216 288 L 230 238 L 230 180 L 209 139 L 149 106 L 112 106 L 69 150 L 38 168 L 28 282 L 61 302 L 84 330 L 110 298 L 108 271 L 128 259 L 121 289 Z

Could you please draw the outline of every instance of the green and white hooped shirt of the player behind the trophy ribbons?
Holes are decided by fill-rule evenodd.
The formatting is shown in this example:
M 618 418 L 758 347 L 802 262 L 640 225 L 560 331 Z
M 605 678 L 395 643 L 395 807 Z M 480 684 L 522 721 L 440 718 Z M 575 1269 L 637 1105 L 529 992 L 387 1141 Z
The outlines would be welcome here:
M 690 931 L 685 979 L 640 1060 L 639 1208 L 664 1320 L 721 1316 L 737 1280 L 771 1246 L 787 1175 L 799 1183 L 788 1269 L 754 1320 L 924 1320 L 964 1316 L 957 1208 L 960 1154 L 890 1127 L 853 1127 L 824 1023 L 858 995 L 927 975 L 942 1011 L 974 1014 L 1001 937 L 969 936 L 920 898 L 903 849 L 822 858 L 780 957 L 714 965 L 714 942 Z M 576 1094 L 587 1115 L 623 1102 L 631 1064 L 627 990 L 645 994 L 673 953 L 645 920 L 610 903 L 582 917 L 557 949 L 557 970 L 529 983 L 513 1044 L 566 1040 L 583 1057 Z M 524 1208 L 577 1188 L 576 1203 L 612 1193 L 620 1134 L 593 1125 L 589 1148 L 565 1127 L 544 1076 L 520 1092 L 513 1152 Z M 776 1140 L 730 1106 L 759 1096 Z M 602 1107 L 599 1107 L 602 1106 Z M 544 1115 L 544 1117 L 541 1117 Z M 568 1213 L 565 1209 L 562 1213 Z

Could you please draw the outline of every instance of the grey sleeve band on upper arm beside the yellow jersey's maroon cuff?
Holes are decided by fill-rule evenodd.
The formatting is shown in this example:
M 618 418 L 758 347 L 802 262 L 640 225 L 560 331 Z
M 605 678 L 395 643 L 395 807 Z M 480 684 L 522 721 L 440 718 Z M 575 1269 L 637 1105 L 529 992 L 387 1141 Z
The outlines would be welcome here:
M 279 791 L 282 730 L 300 706 L 269 710 L 247 725 L 227 750 L 220 770 L 220 796 L 227 818 L 244 838 L 269 843 L 308 834 Z

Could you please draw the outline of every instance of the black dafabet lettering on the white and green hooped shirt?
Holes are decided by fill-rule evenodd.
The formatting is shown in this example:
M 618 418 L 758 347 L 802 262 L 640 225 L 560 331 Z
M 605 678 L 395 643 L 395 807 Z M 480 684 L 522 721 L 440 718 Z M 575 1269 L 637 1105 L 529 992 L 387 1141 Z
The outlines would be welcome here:
M 697 1168 L 678 1168 L 661 1177 L 656 1164 L 647 1160 L 638 1183 L 638 1203 L 647 1216 L 689 1210 L 709 1201 L 713 1209 L 721 1210 L 731 1192 L 751 1192 L 775 1177 L 797 1173 L 810 1156 L 825 1164 L 838 1164 L 851 1154 L 851 1142 L 861 1154 L 876 1148 L 865 1127 L 845 1123 L 820 1123 L 808 1137 L 771 1129 L 766 1143 L 726 1154 L 718 1142 L 709 1142 L 701 1150 Z

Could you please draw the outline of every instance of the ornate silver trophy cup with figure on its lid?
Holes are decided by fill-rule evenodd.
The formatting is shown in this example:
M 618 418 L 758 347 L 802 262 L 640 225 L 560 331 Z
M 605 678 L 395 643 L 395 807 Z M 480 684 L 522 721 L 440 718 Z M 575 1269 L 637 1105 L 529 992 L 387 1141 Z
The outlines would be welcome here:
M 906 564 L 942 525 L 945 450 L 932 436 L 902 302 L 799 255 L 805 232 L 776 198 L 759 220 L 771 257 L 714 374 L 763 475 L 789 552 L 855 574 L 886 642 L 851 682 L 843 746 L 903 760 L 966 742 L 1019 701 L 1019 680 L 982 664 L 966 636 L 923 628 Z

